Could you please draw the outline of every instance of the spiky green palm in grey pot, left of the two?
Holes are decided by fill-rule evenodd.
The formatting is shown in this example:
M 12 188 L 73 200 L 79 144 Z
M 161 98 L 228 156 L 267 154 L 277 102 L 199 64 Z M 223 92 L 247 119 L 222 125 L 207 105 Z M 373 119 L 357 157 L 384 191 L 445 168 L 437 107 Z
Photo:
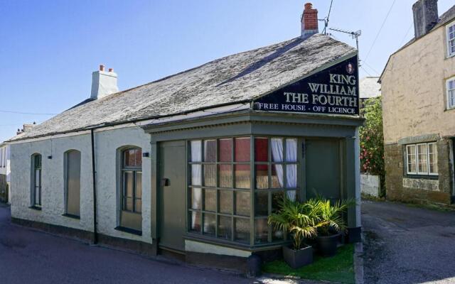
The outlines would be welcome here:
M 279 231 L 287 231 L 292 244 L 283 246 L 284 261 L 291 268 L 300 268 L 313 262 L 313 248 L 306 240 L 317 234 L 314 209 L 308 204 L 289 200 L 285 197 L 279 201 L 279 210 L 269 216 L 269 225 Z

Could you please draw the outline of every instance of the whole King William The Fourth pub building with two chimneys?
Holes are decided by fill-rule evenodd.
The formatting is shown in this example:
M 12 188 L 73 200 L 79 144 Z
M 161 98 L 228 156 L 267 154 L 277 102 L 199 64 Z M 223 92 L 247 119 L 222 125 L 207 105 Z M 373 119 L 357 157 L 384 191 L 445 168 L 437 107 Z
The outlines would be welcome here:
M 281 251 L 280 198 L 360 200 L 357 50 L 319 34 L 311 4 L 301 26 L 122 92 L 100 66 L 90 99 L 9 141 L 12 221 L 245 266 Z M 360 202 L 346 219 L 358 241 Z

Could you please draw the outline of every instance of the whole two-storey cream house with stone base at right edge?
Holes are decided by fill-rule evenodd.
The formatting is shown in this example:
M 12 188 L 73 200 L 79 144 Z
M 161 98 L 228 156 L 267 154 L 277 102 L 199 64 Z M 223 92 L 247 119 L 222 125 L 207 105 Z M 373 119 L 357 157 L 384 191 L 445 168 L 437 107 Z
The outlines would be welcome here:
M 415 37 L 380 77 L 387 198 L 454 202 L 455 6 L 412 6 Z

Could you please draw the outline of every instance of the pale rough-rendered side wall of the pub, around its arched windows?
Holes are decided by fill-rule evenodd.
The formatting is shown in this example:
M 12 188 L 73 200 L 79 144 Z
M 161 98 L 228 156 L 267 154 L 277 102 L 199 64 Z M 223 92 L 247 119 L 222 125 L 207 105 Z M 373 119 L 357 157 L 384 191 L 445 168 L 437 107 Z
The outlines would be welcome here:
M 117 148 L 138 146 L 143 152 L 150 151 L 150 136 L 139 127 L 95 131 L 97 170 L 97 224 L 98 232 L 124 239 L 151 243 L 150 221 L 150 158 L 142 163 L 142 236 L 127 234 L 114 228 L 119 222 L 117 196 Z M 81 152 L 80 220 L 63 217 L 64 153 L 70 149 Z M 41 153 L 42 158 L 42 210 L 29 209 L 31 204 L 31 155 Z M 90 134 L 53 138 L 43 141 L 19 143 L 11 146 L 11 187 L 14 188 L 11 216 L 93 231 L 93 187 Z M 52 159 L 48 159 L 52 155 Z

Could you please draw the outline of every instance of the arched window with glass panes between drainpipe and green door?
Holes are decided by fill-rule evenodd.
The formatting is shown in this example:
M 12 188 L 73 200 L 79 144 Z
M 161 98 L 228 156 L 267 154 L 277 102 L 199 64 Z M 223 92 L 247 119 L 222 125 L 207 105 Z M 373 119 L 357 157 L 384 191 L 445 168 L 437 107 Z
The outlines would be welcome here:
M 142 151 L 130 147 L 122 151 L 120 226 L 142 228 Z

